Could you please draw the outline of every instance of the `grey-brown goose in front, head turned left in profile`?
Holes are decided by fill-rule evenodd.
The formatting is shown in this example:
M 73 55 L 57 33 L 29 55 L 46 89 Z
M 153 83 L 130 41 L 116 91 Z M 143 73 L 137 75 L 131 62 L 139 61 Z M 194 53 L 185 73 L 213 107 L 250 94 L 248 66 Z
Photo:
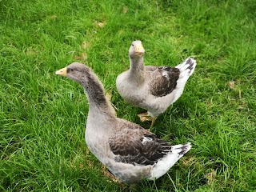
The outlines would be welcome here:
M 89 112 L 86 144 L 90 151 L 122 182 L 154 180 L 190 150 L 190 143 L 171 146 L 133 122 L 117 118 L 98 77 L 86 65 L 74 62 L 56 71 L 83 86 Z

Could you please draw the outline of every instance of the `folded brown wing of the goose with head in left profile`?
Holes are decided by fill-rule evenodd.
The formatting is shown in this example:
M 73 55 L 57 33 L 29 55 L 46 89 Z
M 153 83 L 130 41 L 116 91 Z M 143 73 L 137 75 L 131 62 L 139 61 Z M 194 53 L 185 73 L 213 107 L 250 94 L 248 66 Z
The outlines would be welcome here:
M 142 129 L 118 130 L 109 140 L 116 162 L 133 165 L 154 165 L 171 150 L 168 142 Z

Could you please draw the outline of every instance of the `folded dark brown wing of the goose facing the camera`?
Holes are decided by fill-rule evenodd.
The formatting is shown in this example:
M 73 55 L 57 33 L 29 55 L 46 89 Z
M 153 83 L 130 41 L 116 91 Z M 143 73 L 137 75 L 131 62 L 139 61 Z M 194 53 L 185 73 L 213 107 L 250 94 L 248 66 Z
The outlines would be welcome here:
M 150 94 L 163 97 L 170 94 L 177 86 L 180 70 L 175 67 L 162 66 L 154 71 L 147 70 Z

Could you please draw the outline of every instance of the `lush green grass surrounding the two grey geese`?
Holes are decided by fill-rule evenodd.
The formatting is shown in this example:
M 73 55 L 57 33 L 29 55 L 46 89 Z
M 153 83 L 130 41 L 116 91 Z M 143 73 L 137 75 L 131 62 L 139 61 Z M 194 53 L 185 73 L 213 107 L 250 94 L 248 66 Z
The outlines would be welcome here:
M 113 94 L 118 117 L 148 128 L 115 87 L 140 39 L 148 65 L 193 56 L 198 66 L 153 129 L 193 148 L 138 189 L 256 191 L 255 10 L 253 0 L 0 0 L 0 189 L 123 190 L 86 148 L 82 88 L 54 71 L 85 62 Z

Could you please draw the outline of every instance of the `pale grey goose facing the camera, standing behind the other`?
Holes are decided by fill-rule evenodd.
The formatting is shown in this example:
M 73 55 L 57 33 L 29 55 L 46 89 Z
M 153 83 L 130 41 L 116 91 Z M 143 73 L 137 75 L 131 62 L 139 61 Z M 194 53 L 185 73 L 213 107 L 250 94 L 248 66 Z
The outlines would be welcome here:
M 130 70 L 118 75 L 116 85 L 126 102 L 147 110 L 138 116 L 142 122 L 151 120 L 153 126 L 158 115 L 182 95 L 197 63 L 193 58 L 186 58 L 185 62 L 175 67 L 144 66 L 144 53 L 141 41 L 132 42 L 129 50 Z

